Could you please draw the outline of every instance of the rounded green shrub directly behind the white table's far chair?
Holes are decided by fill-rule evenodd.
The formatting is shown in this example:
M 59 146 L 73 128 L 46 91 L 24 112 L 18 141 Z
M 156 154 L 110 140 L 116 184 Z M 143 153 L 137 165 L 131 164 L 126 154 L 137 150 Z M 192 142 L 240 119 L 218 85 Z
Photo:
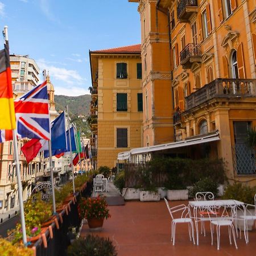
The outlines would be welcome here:
M 218 183 L 210 177 L 205 177 L 188 189 L 189 197 L 195 197 L 197 192 L 212 192 L 214 197 L 216 197 L 218 195 Z

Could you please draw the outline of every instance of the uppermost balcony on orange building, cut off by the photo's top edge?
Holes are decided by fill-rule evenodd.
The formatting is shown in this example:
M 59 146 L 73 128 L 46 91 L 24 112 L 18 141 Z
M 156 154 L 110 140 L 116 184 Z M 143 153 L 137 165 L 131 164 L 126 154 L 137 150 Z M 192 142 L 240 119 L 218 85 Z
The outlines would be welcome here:
M 177 6 L 177 18 L 180 22 L 189 22 L 193 13 L 197 13 L 197 0 L 181 0 Z

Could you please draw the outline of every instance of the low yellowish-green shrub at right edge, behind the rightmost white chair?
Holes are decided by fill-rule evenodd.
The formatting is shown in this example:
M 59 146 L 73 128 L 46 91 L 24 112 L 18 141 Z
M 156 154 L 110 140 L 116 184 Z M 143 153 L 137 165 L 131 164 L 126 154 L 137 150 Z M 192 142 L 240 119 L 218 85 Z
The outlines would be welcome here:
M 247 204 L 254 204 L 254 195 L 256 187 L 242 185 L 242 183 L 234 183 L 228 185 L 225 189 L 223 199 L 234 199 Z

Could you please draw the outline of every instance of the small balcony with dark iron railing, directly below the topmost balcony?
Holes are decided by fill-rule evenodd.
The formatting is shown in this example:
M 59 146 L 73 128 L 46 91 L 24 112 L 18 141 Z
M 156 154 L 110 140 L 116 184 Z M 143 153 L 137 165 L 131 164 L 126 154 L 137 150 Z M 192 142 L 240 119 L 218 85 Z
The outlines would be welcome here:
M 183 69 L 191 68 L 194 62 L 201 62 L 200 44 L 187 44 L 180 52 L 180 64 Z

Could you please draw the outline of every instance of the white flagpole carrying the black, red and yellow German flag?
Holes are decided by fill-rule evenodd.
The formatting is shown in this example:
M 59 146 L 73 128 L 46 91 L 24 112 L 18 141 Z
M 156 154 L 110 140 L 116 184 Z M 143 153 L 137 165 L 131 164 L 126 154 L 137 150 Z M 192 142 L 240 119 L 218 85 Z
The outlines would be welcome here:
M 8 42 L 8 27 L 4 28 L 4 37 L 5 44 L 9 44 Z M 9 54 L 9 52 L 8 52 Z M 8 76 L 7 76 L 8 79 Z M 7 81 L 11 82 L 11 81 Z M 14 145 L 14 159 L 16 165 L 16 175 L 17 175 L 17 183 L 18 183 L 18 195 L 19 195 L 19 209 L 20 209 L 20 222 L 22 226 L 22 239 L 24 246 L 27 246 L 27 233 L 26 233 L 26 223 L 25 223 L 25 214 L 24 214 L 24 205 L 23 205 L 23 192 L 22 192 L 22 183 L 20 179 L 20 168 L 19 168 L 19 152 L 18 152 L 18 141 L 17 141 L 17 132 L 16 129 L 13 130 L 13 145 Z

